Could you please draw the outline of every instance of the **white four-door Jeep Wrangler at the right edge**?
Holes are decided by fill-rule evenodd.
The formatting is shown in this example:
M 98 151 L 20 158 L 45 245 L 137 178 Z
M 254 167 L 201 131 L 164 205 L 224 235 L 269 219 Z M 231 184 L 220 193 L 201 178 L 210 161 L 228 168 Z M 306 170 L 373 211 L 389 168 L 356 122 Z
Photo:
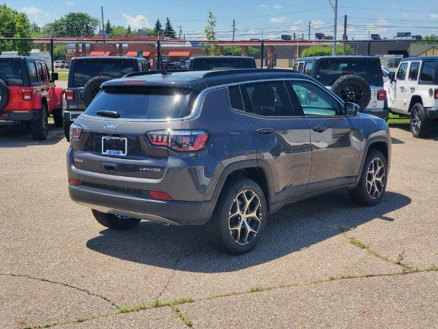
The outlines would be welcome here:
M 414 137 L 426 137 L 438 121 L 438 57 L 404 58 L 385 82 L 389 111 L 411 118 Z

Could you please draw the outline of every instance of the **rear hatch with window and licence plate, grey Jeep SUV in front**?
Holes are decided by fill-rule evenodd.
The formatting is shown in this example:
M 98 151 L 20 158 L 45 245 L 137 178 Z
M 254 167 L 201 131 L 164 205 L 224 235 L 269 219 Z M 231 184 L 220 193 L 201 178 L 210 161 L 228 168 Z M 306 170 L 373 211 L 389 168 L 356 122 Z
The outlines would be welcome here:
M 197 95 L 171 86 L 104 86 L 75 121 L 83 128 L 71 143 L 75 167 L 129 178 L 162 178 L 168 148 L 153 145 L 146 132 L 180 130 Z

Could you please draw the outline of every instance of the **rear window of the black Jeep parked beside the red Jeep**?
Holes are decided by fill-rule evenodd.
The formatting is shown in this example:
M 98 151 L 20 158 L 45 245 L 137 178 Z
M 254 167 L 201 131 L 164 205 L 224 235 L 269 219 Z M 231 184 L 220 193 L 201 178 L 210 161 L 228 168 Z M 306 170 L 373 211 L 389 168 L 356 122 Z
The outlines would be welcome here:
M 88 80 L 99 74 L 117 78 L 132 71 L 133 61 L 131 60 L 77 60 L 73 73 L 73 86 L 83 87 Z

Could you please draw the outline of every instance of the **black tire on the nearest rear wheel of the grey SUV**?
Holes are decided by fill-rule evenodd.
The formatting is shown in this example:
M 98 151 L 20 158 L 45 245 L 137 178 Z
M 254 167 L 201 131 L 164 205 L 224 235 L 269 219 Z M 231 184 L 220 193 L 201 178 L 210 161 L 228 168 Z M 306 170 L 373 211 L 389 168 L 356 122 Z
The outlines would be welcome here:
M 237 202 L 242 202 L 244 200 L 242 193 L 245 193 L 247 199 L 253 195 L 257 195 L 259 199 L 259 205 L 256 204 L 257 199 L 254 197 L 252 203 L 250 203 L 247 207 L 248 210 L 244 208 L 244 212 L 255 212 L 257 214 L 256 216 L 260 219 L 257 221 L 255 217 L 248 217 L 248 220 L 245 221 L 245 223 L 248 223 L 250 228 L 257 230 L 256 233 L 246 230 L 246 227 L 248 226 L 243 226 L 244 221 L 242 221 L 242 217 L 240 216 L 242 215 L 242 211 L 237 213 Z M 240 207 L 242 206 L 243 204 L 240 204 L 239 210 L 241 210 Z M 251 209 L 251 207 L 253 207 L 253 209 Z M 230 212 L 236 212 L 236 215 L 234 217 L 230 217 Z M 231 225 L 233 228 L 235 227 L 236 229 L 230 230 L 229 225 Z M 207 223 L 207 232 L 209 234 L 209 238 L 213 242 L 214 247 L 216 247 L 216 249 L 218 249 L 220 252 L 240 255 L 250 252 L 250 250 L 257 245 L 257 242 L 263 234 L 265 226 L 265 195 L 256 182 L 242 178 L 239 180 L 229 181 L 222 188 L 222 192 L 220 193 L 218 204 L 216 204 L 213 216 Z M 237 228 L 239 227 L 240 232 L 237 231 Z M 244 236 L 240 236 L 242 232 Z M 246 232 L 248 232 L 248 234 L 246 234 Z M 240 241 L 240 243 L 237 243 L 237 241 Z

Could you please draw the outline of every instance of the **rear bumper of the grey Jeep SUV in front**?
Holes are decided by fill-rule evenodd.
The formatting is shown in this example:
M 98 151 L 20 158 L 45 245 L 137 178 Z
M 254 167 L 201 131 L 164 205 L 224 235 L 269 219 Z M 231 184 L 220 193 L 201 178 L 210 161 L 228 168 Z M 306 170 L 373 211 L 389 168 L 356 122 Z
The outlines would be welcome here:
M 69 185 L 68 192 L 78 204 L 102 212 L 175 225 L 202 225 L 213 214 L 218 197 L 202 201 L 153 199 L 148 190 L 160 191 L 160 186 L 166 183 L 77 169 L 70 150 L 67 153 L 68 178 L 79 180 L 79 185 Z M 175 178 L 173 180 L 174 186 L 179 186 Z M 190 194 L 190 186 L 186 184 L 185 188 Z

